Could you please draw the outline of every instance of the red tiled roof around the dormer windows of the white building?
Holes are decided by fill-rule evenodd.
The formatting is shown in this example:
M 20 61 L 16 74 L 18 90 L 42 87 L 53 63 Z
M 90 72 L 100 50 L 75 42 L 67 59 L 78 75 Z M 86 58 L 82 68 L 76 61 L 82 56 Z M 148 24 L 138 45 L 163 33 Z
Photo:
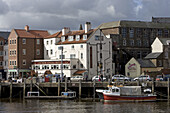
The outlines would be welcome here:
M 91 29 L 89 30 L 87 33 L 85 33 L 84 30 L 79 30 L 79 31 L 70 31 L 69 33 L 67 33 L 64 36 L 73 36 L 73 35 L 87 35 L 87 40 L 83 40 L 83 37 L 80 37 L 79 41 L 76 41 L 76 39 L 74 39 L 73 41 L 68 41 L 68 38 L 64 41 L 64 42 L 59 42 L 57 43 L 58 45 L 60 44 L 76 44 L 76 43 L 86 43 L 88 41 L 88 39 L 90 38 L 90 35 L 95 32 L 97 29 Z

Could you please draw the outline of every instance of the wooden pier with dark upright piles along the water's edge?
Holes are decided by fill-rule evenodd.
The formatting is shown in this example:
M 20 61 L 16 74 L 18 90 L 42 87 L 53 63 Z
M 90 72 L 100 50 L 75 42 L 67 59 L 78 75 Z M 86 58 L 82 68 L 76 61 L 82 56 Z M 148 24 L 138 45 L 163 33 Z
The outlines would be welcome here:
M 124 85 L 124 86 L 142 86 L 142 88 L 151 88 L 152 92 L 156 92 L 160 98 L 169 100 L 170 87 L 168 81 L 68 81 L 56 83 L 44 82 L 40 83 L 36 80 L 24 79 L 22 83 L 1 82 L 0 97 L 1 98 L 25 98 L 29 91 L 39 91 L 41 96 L 60 96 L 63 91 L 76 91 L 78 98 L 96 98 L 96 89 L 106 89 L 107 85 Z M 49 98 L 49 97 L 48 97 Z

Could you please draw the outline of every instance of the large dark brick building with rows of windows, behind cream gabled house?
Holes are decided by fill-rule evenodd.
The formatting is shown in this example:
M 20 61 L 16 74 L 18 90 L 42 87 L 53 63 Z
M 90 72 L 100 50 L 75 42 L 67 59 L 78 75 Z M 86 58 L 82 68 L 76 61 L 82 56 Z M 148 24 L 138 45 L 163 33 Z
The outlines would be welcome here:
M 112 38 L 113 62 L 116 71 L 124 74 L 124 66 L 130 58 L 144 58 L 151 52 L 151 44 L 156 37 L 170 36 L 170 23 L 144 21 L 114 21 L 103 23 L 100 29 Z

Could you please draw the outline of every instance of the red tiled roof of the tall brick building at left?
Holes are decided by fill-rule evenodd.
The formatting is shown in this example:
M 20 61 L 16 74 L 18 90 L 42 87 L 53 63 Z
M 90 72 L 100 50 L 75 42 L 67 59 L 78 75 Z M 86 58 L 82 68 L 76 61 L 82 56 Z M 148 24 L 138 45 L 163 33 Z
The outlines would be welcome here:
M 48 31 L 44 30 L 29 30 L 26 31 L 24 29 L 15 29 L 18 37 L 23 38 L 44 38 L 49 35 Z

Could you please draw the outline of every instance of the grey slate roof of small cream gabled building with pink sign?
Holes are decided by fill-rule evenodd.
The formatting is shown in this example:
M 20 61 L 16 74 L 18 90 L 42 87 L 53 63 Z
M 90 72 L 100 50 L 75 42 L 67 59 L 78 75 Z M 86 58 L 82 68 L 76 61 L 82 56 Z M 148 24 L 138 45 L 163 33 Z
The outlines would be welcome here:
M 142 68 L 153 68 L 156 67 L 150 60 L 137 59 L 138 63 Z

